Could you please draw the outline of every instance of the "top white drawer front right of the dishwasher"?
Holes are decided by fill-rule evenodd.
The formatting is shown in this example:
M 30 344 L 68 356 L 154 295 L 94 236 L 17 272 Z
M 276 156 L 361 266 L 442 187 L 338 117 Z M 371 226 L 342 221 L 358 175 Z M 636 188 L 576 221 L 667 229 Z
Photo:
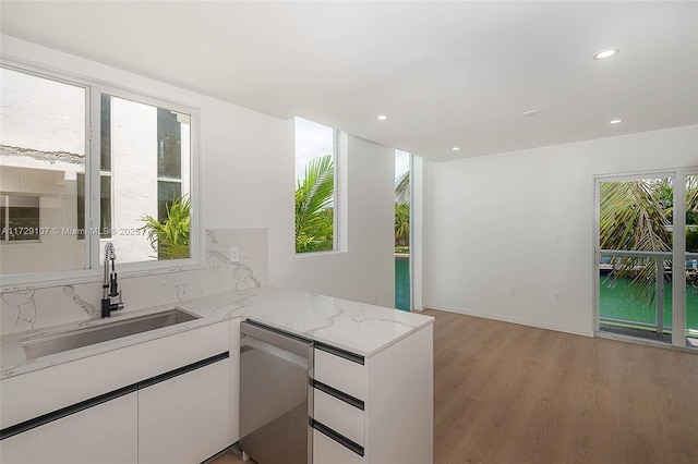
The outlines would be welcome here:
M 362 364 L 315 349 L 315 379 L 359 400 L 365 400 Z

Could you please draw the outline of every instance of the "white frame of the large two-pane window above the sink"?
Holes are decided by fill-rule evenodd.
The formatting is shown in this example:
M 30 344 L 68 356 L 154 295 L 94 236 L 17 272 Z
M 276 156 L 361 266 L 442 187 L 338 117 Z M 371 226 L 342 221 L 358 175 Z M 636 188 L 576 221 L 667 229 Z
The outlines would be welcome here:
M 172 111 L 189 114 L 190 121 L 190 202 L 191 202 L 191 230 L 190 230 L 190 257 L 185 259 L 164 259 L 139 262 L 119 264 L 117 249 L 117 266 L 122 278 L 135 276 L 149 276 L 158 273 L 169 273 L 183 270 L 203 269 L 204 243 L 203 223 L 201 215 L 201 188 L 200 188 L 200 166 L 198 152 L 201 148 L 201 110 L 200 108 L 188 106 L 161 96 L 154 96 L 147 91 L 128 89 L 118 85 L 71 75 L 60 71 L 39 68 L 32 64 L 0 59 L 0 68 L 5 68 L 14 72 L 20 72 L 85 89 L 85 217 L 88 218 L 85 227 L 99 227 L 99 198 L 100 198 L 100 149 L 101 149 L 101 94 L 107 94 L 117 98 L 132 100 L 139 103 L 149 105 L 157 108 L 167 108 Z M 111 160 L 111 171 L 113 172 L 113 159 Z M 111 182 L 113 200 L 113 182 Z M 113 215 L 113 203 L 112 203 Z M 113 216 L 112 216 L 113 217 Z M 113 222 L 112 222 L 113 227 Z M 89 234 L 86 234 L 86 236 Z M 100 239 L 98 235 L 89 235 L 85 240 L 85 268 L 62 270 L 62 271 L 40 271 L 16 274 L 0 274 L 0 291 L 13 291 L 27 288 L 46 288 L 60 284 L 100 282 L 103 269 L 99 265 L 100 242 L 109 239 Z M 27 243 L 28 245 L 28 243 Z

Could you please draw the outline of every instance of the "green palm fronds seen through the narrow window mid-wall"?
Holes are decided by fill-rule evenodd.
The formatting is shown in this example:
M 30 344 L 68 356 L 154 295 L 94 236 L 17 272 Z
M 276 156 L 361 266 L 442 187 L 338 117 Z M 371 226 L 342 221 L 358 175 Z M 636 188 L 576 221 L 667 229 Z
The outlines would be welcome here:
M 332 155 L 312 159 L 296 186 L 296 253 L 334 248 L 335 167 Z

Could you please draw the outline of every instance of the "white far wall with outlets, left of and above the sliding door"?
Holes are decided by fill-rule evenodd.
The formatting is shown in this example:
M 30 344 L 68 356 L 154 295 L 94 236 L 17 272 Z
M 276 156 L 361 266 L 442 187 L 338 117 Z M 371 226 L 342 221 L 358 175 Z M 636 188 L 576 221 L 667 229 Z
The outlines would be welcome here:
M 593 176 L 690 166 L 698 126 L 429 162 L 424 304 L 592 334 Z

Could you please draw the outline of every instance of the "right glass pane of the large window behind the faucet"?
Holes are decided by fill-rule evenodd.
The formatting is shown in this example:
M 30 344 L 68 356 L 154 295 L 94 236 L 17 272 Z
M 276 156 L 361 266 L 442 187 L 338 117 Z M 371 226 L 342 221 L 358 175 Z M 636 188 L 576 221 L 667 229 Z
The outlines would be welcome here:
M 101 233 L 110 230 L 121 262 L 189 258 L 191 114 L 100 101 Z

